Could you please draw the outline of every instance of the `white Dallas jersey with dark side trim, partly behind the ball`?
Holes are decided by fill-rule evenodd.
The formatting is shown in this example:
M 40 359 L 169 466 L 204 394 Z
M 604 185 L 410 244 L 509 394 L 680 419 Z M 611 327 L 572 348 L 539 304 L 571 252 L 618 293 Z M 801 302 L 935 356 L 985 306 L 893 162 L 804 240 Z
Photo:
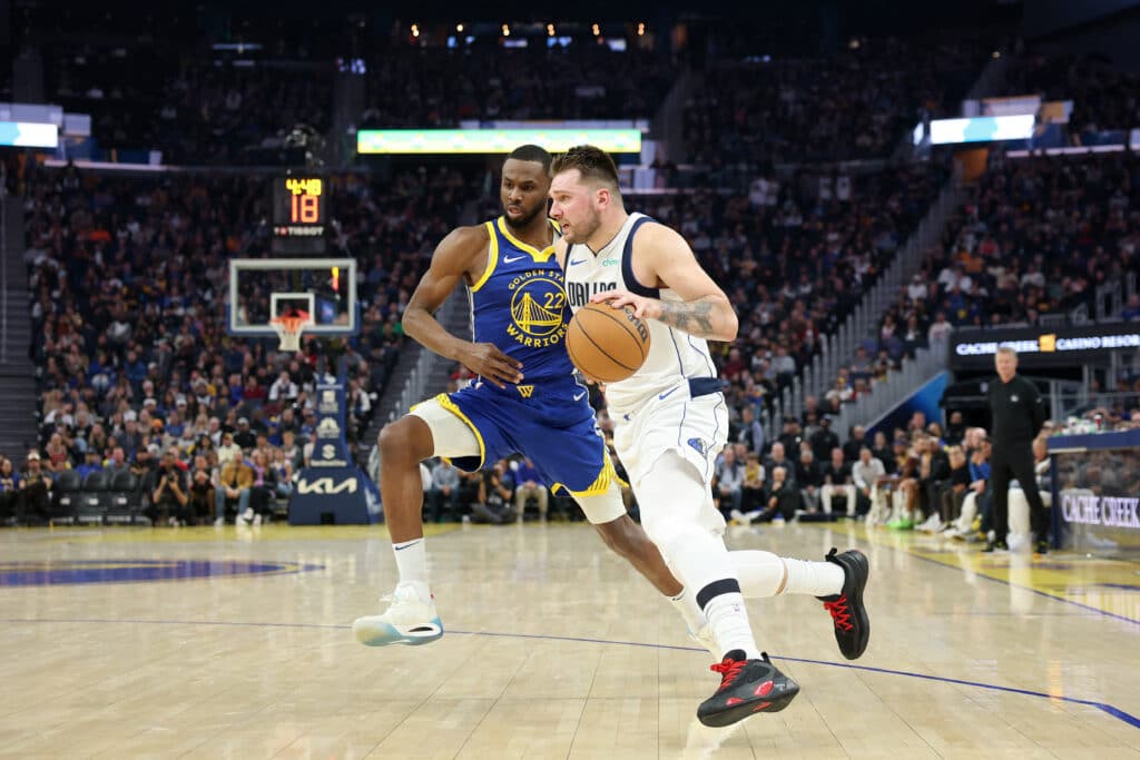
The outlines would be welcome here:
M 565 285 L 571 309 L 578 311 L 589 303 L 595 293 L 618 288 L 661 301 L 682 301 L 671 289 L 644 287 L 634 277 L 634 235 L 638 227 L 652 221 L 645 214 L 629 214 L 618 234 L 597 254 L 585 245 L 569 247 Z M 685 379 L 716 377 L 716 367 L 705 338 L 674 329 L 656 319 L 645 321 L 650 330 L 649 356 L 633 377 L 606 384 L 605 400 L 611 407 L 634 409 Z

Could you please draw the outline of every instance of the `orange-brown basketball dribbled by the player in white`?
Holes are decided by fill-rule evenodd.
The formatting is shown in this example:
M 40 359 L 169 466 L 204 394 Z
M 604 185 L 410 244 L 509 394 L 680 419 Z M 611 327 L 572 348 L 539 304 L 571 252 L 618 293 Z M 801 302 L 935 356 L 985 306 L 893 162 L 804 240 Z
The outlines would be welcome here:
M 567 352 L 581 373 L 600 383 L 617 383 L 637 371 L 649 356 L 649 325 L 632 307 L 588 303 L 567 329 Z

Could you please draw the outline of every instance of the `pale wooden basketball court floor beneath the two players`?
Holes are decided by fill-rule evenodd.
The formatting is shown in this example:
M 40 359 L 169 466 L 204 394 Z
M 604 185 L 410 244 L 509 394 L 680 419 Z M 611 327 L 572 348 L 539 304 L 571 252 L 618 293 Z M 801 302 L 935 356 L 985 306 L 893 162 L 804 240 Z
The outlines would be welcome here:
M 429 553 L 447 635 L 367 648 L 380 526 L 0 532 L 0 757 L 1140 758 L 1140 564 L 861 525 L 731 545 L 871 561 L 866 655 L 808 597 L 749 602 L 803 692 L 697 724 L 718 676 L 583 524 L 456 526 Z

